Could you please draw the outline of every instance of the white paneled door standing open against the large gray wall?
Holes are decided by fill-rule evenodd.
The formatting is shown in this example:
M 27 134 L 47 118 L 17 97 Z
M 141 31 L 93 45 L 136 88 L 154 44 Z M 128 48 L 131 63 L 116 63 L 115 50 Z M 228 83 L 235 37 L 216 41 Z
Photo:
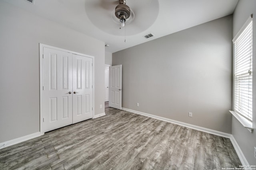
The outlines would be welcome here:
M 122 109 L 122 65 L 109 67 L 109 107 Z

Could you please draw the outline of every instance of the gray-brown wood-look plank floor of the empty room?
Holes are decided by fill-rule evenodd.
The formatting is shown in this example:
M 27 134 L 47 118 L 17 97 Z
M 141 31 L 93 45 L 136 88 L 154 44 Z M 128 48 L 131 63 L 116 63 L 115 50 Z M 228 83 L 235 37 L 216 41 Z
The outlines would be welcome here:
M 128 111 L 0 150 L 0 169 L 221 170 L 241 162 L 230 139 Z

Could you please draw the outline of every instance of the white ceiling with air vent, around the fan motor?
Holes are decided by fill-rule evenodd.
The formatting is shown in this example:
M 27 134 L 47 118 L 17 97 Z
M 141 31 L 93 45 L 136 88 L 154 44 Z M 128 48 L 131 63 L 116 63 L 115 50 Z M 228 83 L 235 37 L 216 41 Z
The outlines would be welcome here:
M 238 0 L 126 0 L 134 20 L 124 28 L 113 19 L 119 0 L 5 0 L 29 12 L 104 41 L 114 53 L 233 14 Z M 153 33 L 155 36 L 144 38 Z

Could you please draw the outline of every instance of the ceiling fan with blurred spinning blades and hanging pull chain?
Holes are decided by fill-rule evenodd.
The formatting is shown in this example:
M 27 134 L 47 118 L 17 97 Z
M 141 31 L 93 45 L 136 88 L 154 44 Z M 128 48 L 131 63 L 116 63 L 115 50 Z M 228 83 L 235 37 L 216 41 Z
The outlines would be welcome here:
M 142 33 L 156 21 L 158 1 L 86 0 L 85 12 L 89 20 L 102 31 L 114 36 L 124 36 L 126 32 L 126 36 L 130 36 Z

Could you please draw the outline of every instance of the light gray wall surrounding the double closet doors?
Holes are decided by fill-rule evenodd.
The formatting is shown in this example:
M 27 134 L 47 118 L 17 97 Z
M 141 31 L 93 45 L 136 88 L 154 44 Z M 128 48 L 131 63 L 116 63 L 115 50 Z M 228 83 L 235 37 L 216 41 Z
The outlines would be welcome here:
M 0 143 L 39 132 L 39 43 L 95 57 L 95 114 L 104 113 L 104 42 L 0 1 Z

